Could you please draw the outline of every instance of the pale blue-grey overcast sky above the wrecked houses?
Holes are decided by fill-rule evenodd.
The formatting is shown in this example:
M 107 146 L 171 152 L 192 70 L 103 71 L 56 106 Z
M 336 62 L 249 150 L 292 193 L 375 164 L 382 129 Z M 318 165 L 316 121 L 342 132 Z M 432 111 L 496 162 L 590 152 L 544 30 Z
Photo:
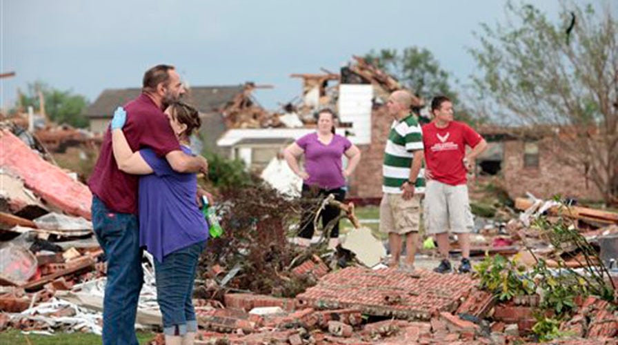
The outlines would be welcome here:
M 0 103 L 12 106 L 17 88 L 36 80 L 94 101 L 170 63 L 191 86 L 275 86 L 257 93 L 275 109 L 301 94 L 292 73 L 337 72 L 352 55 L 408 46 L 427 48 L 465 84 L 475 70 L 466 52 L 477 44 L 473 32 L 504 23 L 505 2 L 0 0 L 0 72 L 17 72 L 0 79 Z M 534 2 L 558 17 L 557 0 Z

